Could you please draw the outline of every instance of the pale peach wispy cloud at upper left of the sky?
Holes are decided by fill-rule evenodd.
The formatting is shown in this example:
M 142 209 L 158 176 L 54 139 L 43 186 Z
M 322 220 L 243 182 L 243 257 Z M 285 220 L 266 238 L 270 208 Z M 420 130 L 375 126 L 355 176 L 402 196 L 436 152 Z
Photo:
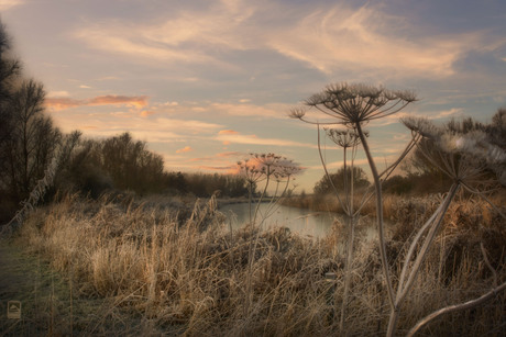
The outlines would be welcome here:
M 129 55 L 165 63 L 220 64 L 209 52 L 244 49 L 243 23 L 253 14 L 251 7 L 241 1 L 217 1 L 206 11 L 174 11 L 177 14 L 155 24 L 132 22 L 99 22 L 75 32 L 74 36 L 91 47 L 105 52 Z

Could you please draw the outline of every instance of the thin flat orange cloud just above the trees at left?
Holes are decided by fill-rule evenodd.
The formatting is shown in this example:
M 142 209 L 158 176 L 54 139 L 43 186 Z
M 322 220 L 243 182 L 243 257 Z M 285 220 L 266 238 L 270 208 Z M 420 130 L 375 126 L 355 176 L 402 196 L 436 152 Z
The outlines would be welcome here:
M 69 98 L 48 98 L 45 100 L 45 105 L 53 110 L 63 110 L 87 105 L 125 105 L 141 109 L 147 105 L 147 96 L 107 94 L 99 96 L 88 100 L 76 100 Z

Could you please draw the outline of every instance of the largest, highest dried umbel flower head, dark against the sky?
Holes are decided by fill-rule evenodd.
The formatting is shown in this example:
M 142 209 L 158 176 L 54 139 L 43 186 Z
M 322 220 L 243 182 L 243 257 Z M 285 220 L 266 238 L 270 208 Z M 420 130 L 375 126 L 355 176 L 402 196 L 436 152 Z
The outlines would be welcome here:
M 326 87 L 304 104 L 337 119 L 338 122 L 333 123 L 355 125 L 396 113 L 416 100 L 416 94 L 408 90 L 387 90 L 381 86 L 342 82 Z M 312 123 L 306 120 L 306 112 L 307 109 L 297 108 L 292 110 L 290 116 Z

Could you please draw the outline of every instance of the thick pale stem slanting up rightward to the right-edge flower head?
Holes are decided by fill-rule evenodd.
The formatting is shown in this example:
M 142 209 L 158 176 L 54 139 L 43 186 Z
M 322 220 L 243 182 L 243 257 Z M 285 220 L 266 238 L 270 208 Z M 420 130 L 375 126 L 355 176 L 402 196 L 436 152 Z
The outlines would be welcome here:
M 459 188 L 460 188 L 460 183 L 457 182 L 454 184 L 452 184 L 452 187 L 450 188 L 450 191 L 446 198 L 446 200 L 443 201 L 442 203 L 442 209 L 438 209 L 438 218 L 437 221 L 433 223 L 433 225 L 429 228 L 429 233 L 427 233 L 427 237 L 424 241 L 424 245 L 422 247 L 420 248 L 420 251 L 415 260 L 415 263 L 411 268 L 411 271 L 409 272 L 409 277 L 408 277 L 408 280 L 406 281 L 406 284 L 404 287 L 404 289 L 402 289 L 403 287 L 403 280 L 399 281 L 399 288 L 398 288 L 398 291 L 397 291 L 397 296 L 395 299 L 395 304 L 394 304 L 394 307 L 392 308 L 392 312 L 391 312 L 391 318 L 388 321 L 388 329 L 387 329 L 387 336 L 391 337 L 391 336 L 394 336 L 394 333 L 395 333 L 395 329 L 396 329 L 396 326 L 397 326 L 397 321 L 398 321 L 398 317 L 399 317 L 399 306 L 402 304 L 402 302 L 404 301 L 404 299 L 406 297 L 406 295 L 409 293 L 409 291 L 411 290 L 413 288 L 413 284 L 415 282 L 415 279 L 416 277 L 418 276 L 418 271 L 420 270 L 420 267 L 421 267 L 421 263 L 424 262 L 425 258 L 427 257 L 427 252 L 429 251 L 429 248 L 431 247 L 432 243 L 433 243 L 433 239 L 436 237 L 436 234 L 439 229 L 439 227 L 441 226 L 441 223 L 443 221 L 443 217 L 444 217 L 444 214 L 447 213 L 447 210 L 448 207 L 450 206 L 453 198 L 455 196 L 457 192 L 459 191 Z M 425 226 L 422 227 L 422 231 L 425 231 Z M 417 237 L 416 240 L 418 240 L 419 237 Z M 411 247 L 410 247 L 410 251 L 411 251 L 411 248 L 416 245 L 416 241 L 414 241 L 411 244 Z M 405 267 L 409 263 L 409 260 L 406 260 L 405 261 Z M 404 268 L 403 268 L 403 272 L 404 272 Z M 403 273 L 404 276 L 404 273 Z

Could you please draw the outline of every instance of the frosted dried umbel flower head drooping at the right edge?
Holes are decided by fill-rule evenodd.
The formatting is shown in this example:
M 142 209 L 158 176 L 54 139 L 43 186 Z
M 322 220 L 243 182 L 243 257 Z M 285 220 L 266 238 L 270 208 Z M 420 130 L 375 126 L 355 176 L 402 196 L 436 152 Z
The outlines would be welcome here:
M 506 151 L 491 143 L 481 130 L 438 127 L 426 119 L 403 119 L 413 133 L 422 136 L 421 153 L 448 176 L 464 183 L 483 182 L 486 170 L 506 184 Z

